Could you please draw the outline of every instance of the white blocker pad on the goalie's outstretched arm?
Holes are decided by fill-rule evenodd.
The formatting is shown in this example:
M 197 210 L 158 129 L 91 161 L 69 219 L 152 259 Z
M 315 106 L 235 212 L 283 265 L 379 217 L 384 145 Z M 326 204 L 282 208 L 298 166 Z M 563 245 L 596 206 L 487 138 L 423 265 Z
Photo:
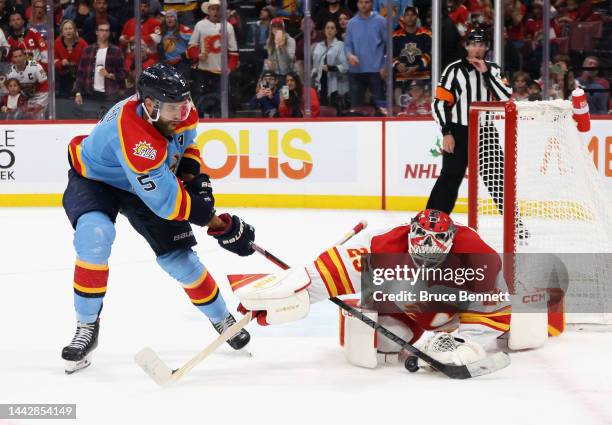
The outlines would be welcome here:
M 235 289 L 242 305 L 251 311 L 265 311 L 266 322 L 280 325 L 302 319 L 310 311 L 310 276 L 305 268 L 283 270 Z

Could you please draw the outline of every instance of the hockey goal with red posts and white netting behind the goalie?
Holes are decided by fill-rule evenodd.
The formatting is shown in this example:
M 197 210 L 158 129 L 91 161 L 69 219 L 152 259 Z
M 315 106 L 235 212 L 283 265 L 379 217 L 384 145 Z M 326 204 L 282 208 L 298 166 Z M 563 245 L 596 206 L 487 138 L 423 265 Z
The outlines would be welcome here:
M 468 174 L 469 225 L 498 252 L 598 257 L 571 268 L 567 321 L 612 323 L 612 203 L 570 102 L 472 104 Z

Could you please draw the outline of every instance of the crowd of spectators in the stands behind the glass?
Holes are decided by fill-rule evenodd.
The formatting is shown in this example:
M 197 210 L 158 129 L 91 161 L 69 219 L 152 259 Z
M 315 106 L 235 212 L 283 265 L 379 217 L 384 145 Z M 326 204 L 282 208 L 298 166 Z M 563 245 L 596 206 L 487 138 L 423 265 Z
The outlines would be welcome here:
M 49 67 L 55 72 L 55 116 L 99 118 L 134 93 L 137 50 L 143 67 L 162 61 L 191 81 L 201 116 L 221 116 L 225 72 L 234 117 L 431 113 L 430 0 L 391 0 L 391 8 L 387 0 L 312 0 L 310 21 L 303 0 L 228 0 L 225 23 L 221 0 L 139 3 L 136 40 L 133 0 L 55 0 L 52 12 L 46 0 L 0 0 L 0 118 L 47 116 Z M 542 0 L 504 0 L 503 7 L 504 69 L 515 100 L 542 99 L 542 69 L 548 66 L 548 98 L 568 99 L 581 87 L 591 113 L 610 113 L 610 0 L 551 0 L 550 64 L 542 63 Z M 490 32 L 493 17 L 492 0 L 447 0 L 442 68 L 463 57 L 470 29 Z M 387 19 L 393 28 L 390 52 Z M 387 104 L 389 79 L 393 105 Z

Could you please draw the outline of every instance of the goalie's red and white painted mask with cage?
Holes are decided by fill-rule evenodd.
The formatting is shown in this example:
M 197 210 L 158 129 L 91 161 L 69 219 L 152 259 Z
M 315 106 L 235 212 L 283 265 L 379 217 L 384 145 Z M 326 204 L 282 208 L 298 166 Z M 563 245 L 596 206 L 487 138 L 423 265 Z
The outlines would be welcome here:
M 423 210 L 410 223 L 408 253 L 419 267 L 441 264 L 453 246 L 457 228 L 445 212 Z

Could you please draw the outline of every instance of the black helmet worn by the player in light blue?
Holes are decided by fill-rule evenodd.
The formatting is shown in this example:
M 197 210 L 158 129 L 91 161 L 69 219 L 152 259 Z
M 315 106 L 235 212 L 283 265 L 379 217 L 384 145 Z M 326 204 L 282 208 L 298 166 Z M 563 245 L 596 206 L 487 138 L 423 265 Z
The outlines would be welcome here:
M 182 102 L 190 98 L 189 83 L 171 65 L 156 63 L 138 78 L 138 95 L 160 102 Z

